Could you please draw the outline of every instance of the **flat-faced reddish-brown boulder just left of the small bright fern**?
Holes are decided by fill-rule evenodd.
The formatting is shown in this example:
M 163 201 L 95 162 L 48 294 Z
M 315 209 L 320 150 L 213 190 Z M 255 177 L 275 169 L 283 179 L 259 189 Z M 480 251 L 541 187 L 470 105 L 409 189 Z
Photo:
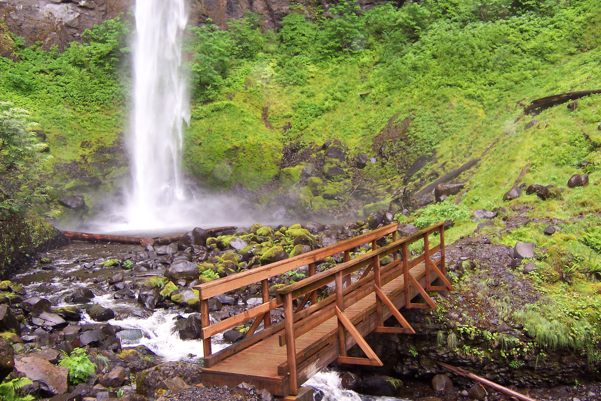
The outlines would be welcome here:
M 14 363 L 14 369 L 37 382 L 48 393 L 64 394 L 67 391 L 68 367 L 54 366 L 40 358 L 25 357 Z

